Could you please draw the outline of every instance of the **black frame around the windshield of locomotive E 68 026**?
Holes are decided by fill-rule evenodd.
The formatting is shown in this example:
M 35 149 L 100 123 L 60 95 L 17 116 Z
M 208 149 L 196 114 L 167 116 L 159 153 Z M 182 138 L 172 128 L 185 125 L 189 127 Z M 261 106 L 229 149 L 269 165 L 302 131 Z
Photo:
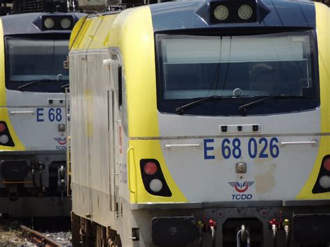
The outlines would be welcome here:
M 286 106 L 282 106 L 279 109 L 274 109 L 272 111 L 265 111 L 260 110 L 260 106 L 253 106 L 253 109 L 251 108 L 251 111 L 249 109 L 248 115 L 274 115 L 274 114 L 281 114 L 281 113 L 294 113 L 294 112 L 301 112 L 301 111 L 313 111 L 317 109 L 320 106 L 320 79 L 319 79 L 319 66 L 318 66 L 318 53 L 317 53 L 317 36 L 315 29 L 310 28 L 263 28 L 263 29 L 190 29 L 185 31 L 162 31 L 162 32 L 155 32 L 155 61 L 156 61 L 156 80 L 157 80 L 157 109 L 160 113 L 167 113 L 167 114 L 176 114 L 175 109 L 177 109 L 180 106 L 183 106 L 184 104 L 189 104 L 193 100 L 190 101 L 187 100 L 178 100 L 176 103 L 171 103 L 171 100 L 164 99 L 164 72 L 162 71 L 163 63 L 162 63 L 162 46 L 160 44 L 162 37 L 167 36 L 170 37 L 173 35 L 201 35 L 201 36 L 244 36 L 244 35 L 278 35 L 281 33 L 288 33 L 289 35 L 297 35 L 298 33 L 304 33 L 306 35 L 306 32 L 308 33 L 308 36 L 310 37 L 310 52 L 311 52 L 311 79 L 313 81 L 313 93 L 315 97 L 313 97 L 313 103 L 309 104 L 309 102 L 306 104 L 306 107 L 294 109 L 295 107 L 289 107 L 286 108 Z M 301 34 L 302 35 L 302 34 Z M 198 98 L 201 99 L 201 98 Z M 243 98 L 241 98 L 243 99 Z M 249 102 L 252 102 L 255 99 L 248 99 L 248 100 L 241 100 L 237 98 L 237 104 L 235 104 L 235 111 L 219 111 L 221 109 L 221 104 L 219 102 L 226 103 L 223 106 L 227 107 L 230 106 L 230 99 L 221 99 L 221 100 L 215 100 L 212 102 L 203 102 L 201 106 L 194 106 L 189 109 L 189 111 L 186 111 L 185 115 L 203 115 L 203 116 L 237 116 L 241 115 L 238 111 L 238 106 L 242 104 L 248 104 Z M 258 98 L 256 98 L 258 99 Z M 306 102 L 306 99 L 273 99 L 269 100 L 268 102 L 265 101 L 266 106 L 269 106 L 269 104 L 274 104 L 274 100 L 281 102 L 283 105 L 288 104 L 289 106 L 292 106 L 292 101 L 297 102 L 297 104 L 304 104 Z M 298 103 L 299 102 L 299 103 Z M 212 104 L 217 104 L 216 107 L 213 107 L 215 111 L 205 111 L 203 112 L 201 109 L 203 107 L 210 107 Z M 262 104 L 260 104 L 262 105 Z M 266 106 L 261 106 L 261 108 L 267 108 Z

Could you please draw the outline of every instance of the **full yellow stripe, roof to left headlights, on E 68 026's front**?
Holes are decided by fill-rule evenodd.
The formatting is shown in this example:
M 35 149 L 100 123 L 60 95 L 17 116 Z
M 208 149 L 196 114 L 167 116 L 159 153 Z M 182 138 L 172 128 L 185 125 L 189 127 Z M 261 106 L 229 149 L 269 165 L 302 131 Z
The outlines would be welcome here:
M 129 136 L 159 136 L 156 98 L 155 41 L 150 8 L 143 6 L 118 15 L 109 38 L 109 46 L 118 46 L 123 56 L 127 88 Z M 129 141 L 129 188 L 132 203 L 187 202 L 175 184 L 162 153 L 159 140 Z M 140 160 L 157 159 L 162 167 L 171 197 L 152 196 L 144 188 Z M 133 167 L 132 167 L 133 166 Z

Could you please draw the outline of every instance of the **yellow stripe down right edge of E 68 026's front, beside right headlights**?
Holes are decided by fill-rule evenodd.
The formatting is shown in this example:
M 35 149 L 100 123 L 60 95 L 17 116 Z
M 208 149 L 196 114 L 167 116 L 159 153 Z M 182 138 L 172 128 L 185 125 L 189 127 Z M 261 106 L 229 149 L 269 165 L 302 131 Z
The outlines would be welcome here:
M 320 67 L 320 97 L 321 97 L 321 132 L 330 132 L 330 8 L 321 3 L 315 3 L 316 32 Z M 313 194 L 312 189 L 320 171 L 322 159 L 330 154 L 330 136 L 320 138 L 320 148 L 310 177 L 297 199 L 330 199 L 330 192 Z

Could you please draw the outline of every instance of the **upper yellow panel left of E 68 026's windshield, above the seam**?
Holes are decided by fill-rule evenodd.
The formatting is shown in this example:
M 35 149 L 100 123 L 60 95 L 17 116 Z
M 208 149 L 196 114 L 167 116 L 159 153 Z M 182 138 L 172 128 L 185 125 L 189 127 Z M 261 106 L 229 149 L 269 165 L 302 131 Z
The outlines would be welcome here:
M 123 23 L 118 43 L 127 86 L 129 136 L 159 136 L 155 41 L 150 8 L 143 6 L 125 11 L 116 23 Z

